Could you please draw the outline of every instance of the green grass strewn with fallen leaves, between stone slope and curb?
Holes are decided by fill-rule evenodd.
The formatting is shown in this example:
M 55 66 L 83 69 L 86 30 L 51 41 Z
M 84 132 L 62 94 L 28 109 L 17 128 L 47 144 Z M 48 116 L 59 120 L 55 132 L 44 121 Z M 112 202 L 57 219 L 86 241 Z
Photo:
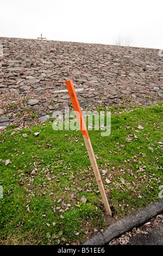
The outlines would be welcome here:
M 89 131 L 116 218 L 158 200 L 162 185 L 162 103 L 121 111 L 111 115 L 110 136 Z M 47 121 L 23 130 L 10 126 L 0 138 L 1 245 L 78 244 L 106 228 L 80 131 L 54 131 Z

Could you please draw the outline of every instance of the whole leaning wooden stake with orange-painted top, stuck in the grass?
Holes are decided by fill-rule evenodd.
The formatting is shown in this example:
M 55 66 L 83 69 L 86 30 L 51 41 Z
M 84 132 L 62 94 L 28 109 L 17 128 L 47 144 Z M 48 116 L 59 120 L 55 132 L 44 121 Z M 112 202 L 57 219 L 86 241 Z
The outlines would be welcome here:
M 109 216 L 111 216 L 110 206 L 109 206 L 109 203 L 108 203 L 108 199 L 106 197 L 106 193 L 105 193 L 105 190 L 104 190 L 101 175 L 99 173 L 99 169 L 98 169 L 98 166 L 97 166 L 95 154 L 94 154 L 93 149 L 92 149 L 91 141 L 90 141 L 87 129 L 86 129 L 85 121 L 84 121 L 83 114 L 82 114 L 82 111 L 81 111 L 81 108 L 80 108 L 80 105 L 79 105 L 79 101 L 78 101 L 76 91 L 75 91 L 74 86 L 73 86 L 73 82 L 72 82 L 72 80 L 69 80 L 69 81 L 66 81 L 65 83 L 66 83 L 66 87 L 67 87 L 68 93 L 69 93 L 71 101 L 72 101 L 74 111 L 76 112 L 76 115 L 77 115 L 80 130 L 82 131 L 82 135 L 83 135 L 83 139 L 84 139 L 84 142 L 85 142 L 85 145 L 86 145 L 87 153 L 89 154 L 89 157 L 90 157 L 93 172 L 95 173 L 98 188 L 99 188 L 99 191 L 101 192 L 101 196 L 102 196 L 102 199 L 103 199 L 103 202 L 104 202 L 104 205 L 105 205 L 106 212 Z

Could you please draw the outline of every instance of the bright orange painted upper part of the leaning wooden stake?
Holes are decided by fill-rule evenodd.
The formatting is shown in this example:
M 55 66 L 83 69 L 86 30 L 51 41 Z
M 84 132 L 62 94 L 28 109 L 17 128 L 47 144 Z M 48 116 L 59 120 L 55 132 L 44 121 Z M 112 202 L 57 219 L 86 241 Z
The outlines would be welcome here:
M 74 111 L 76 112 L 76 116 L 77 116 L 77 119 L 78 119 L 78 123 L 79 123 L 79 126 L 80 126 L 80 130 L 82 132 L 82 135 L 86 135 L 87 139 L 89 139 L 89 134 L 88 134 L 87 129 L 86 129 L 86 125 L 85 125 L 85 121 L 84 121 L 84 118 L 83 118 L 82 110 L 81 110 L 80 105 L 79 105 L 78 97 L 77 97 L 75 88 L 73 86 L 73 82 L 72 82 L 72 80 L 69 80 L 69 81 L 66 81 L 65 84 L 66 84 L 68 93 L 70 95 L 70 99 L 72 101 Z

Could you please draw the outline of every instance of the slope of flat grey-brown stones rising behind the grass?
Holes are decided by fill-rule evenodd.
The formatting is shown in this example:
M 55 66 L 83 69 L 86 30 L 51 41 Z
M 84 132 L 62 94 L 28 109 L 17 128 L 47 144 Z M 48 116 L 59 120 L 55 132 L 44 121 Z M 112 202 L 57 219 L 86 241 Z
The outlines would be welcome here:
M 0 43 L 0 126 L 35 124 L 71 106 L 64 83 L 70 79 L 83 109 L 163 99 L 159 50 L 18 38 Z

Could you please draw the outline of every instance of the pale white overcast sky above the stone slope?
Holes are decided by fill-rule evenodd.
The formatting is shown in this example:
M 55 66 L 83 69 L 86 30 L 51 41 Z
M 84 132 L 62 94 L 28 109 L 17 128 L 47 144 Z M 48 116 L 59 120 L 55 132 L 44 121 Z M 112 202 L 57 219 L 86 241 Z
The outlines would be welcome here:
M 0 0 L 0 37 L 163 49 L 162 0 Z

